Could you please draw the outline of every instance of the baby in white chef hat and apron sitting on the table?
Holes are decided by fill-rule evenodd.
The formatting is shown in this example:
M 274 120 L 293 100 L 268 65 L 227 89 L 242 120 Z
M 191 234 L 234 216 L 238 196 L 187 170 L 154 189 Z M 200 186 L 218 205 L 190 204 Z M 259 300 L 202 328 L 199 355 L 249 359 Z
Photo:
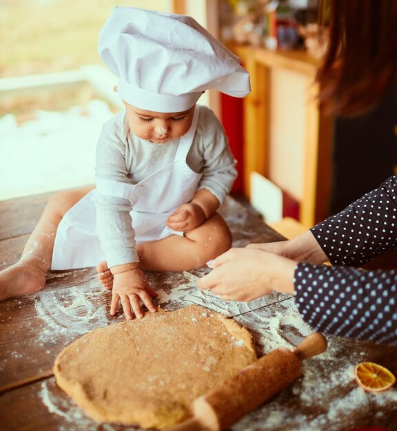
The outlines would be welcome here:
M 234 54 L 182 15 L 115 8 L 99 53 L 125 109 L 103 127 L 96 188 L 50 199 L 21 260 L 0 273 L 0 299 L 42 288 L 49 269 L 102 262 L 110 313 L 121 302 L 132 319 L 141 302 L 156 310 L 143 271 L 194 269 L 231 246 L 216 210 L 235 160 L 221 123 L 196 102 L 210 88 L 246 96 L 250 82 Z

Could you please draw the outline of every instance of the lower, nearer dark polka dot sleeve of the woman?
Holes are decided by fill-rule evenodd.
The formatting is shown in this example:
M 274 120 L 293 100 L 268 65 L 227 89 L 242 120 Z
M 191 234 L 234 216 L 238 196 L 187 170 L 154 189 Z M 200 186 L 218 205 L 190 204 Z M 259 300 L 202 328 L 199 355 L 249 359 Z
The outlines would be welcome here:
M 300 263 L 294 284 L 301 317 L 314 329 L 397 345 L 397 271 Z

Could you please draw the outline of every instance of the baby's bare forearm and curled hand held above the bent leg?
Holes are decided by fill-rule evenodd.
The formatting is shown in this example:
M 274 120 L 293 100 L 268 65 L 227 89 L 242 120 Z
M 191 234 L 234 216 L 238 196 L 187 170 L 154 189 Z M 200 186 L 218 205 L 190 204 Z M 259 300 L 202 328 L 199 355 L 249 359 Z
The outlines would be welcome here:
M 180 232 L 192 231 L 211 218 L 218 207 L 218 199 L 209 190 L 200 189 L 189 203 L 182 204 L 170 215 L 167 227 Z

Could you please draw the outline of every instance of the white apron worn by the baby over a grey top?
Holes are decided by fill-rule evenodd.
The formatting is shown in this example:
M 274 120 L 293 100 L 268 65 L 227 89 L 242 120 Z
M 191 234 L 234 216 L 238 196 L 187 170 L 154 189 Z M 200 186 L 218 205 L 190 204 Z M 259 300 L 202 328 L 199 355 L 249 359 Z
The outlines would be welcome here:
M 62 218 L 55 237 L 51 269 L 85 268 L 105 260 L 96 231 L 96 193 L 130 200 L 137 243 L 183 235 L 183 232 L 168 228 L 165 222 L 177 207 L 192 200 L 202 176 L 186 164 L 198 117 L 199 105 L 196 105 L 192 126 L 179 139 L 174 161 L 159 171 L 136 185 L 101 178 L 96 180 L 96 189 L 83 196 Z

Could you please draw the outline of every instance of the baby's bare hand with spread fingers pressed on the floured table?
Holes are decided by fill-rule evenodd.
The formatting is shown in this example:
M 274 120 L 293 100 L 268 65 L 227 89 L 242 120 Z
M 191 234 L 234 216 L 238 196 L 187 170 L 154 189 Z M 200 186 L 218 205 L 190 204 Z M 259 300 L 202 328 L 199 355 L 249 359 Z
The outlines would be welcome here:
M 112 291 L 112 305 L 110 306 L 110 314 L 116 314 L 117 306 L 121 301 L 125 319 L 132 319 L 132 311 L 137 319 L 143 317 L 139 299 L 146 306 L 150 313 L 156 311 L 156 307 L 152 302 L 152 298 L 156 297 L 157 293 L 154 292 L 150 284 L 147 282 L 145 274 L 139 269 L 131 269 L 124 273 L 114 274 L 113 291 Z M 132 311 L 131 311 L 132 308 Z

